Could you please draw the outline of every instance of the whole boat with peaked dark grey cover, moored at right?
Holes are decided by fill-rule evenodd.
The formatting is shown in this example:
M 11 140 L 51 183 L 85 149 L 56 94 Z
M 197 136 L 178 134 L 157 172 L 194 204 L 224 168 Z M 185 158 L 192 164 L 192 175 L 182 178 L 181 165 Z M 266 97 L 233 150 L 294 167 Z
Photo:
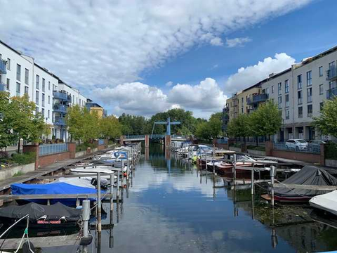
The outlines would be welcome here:
M 337 179 L 320 167 L 306 165 L 284 184 L 298 184 L 303 186 L 336 186 Z M 329 193 L 326 190 L 308 190 L 298 188 L 275 188 L 274 200 L 279 202 L 308 202 L 312 197 Z M 271 200 L 270 195 L 262 195 L 265 200 Z

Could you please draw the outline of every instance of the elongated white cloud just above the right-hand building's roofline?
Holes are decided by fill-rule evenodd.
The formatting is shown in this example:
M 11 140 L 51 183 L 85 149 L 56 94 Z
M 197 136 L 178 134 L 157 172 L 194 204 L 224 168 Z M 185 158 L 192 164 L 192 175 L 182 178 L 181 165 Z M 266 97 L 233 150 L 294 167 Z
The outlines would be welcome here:
M 262 62 L 248 67 L 240 67 L 225 83 L 225 92 L 232 93 L 257 84 L 273 72 L 281 72 L 291 67 L 295 59 L 286 53 L 276 53 L 275 58 L 265 58 Z

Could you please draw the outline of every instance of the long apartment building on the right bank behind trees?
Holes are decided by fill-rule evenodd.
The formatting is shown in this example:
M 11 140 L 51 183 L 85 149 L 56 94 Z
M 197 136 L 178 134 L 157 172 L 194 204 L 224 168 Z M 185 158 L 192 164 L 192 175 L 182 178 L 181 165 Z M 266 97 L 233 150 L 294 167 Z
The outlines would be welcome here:
M 270 99 L 277 103 L 282 112 L 282 129 L 273 137 L 274 141 L 286 141 L 289 138 L 329 139 L 321 136 L 312 126 L 312 117 L 318 117 L 324 100 L 337 96 L 337 46 L 319 53 L 317 56 L 305 58 L 301 63 L 277 74 L 270 74 L 263 81 L 244 91 L 260 89 L 247 100 L 250 108 L 255 110 L 258 103 Z M 226 102 L 230 117 L 235 117 L 232 96 Z M 239 102 L 239 101 L 238 101 Z M 239 105 L 240 106 L 240 105 Z

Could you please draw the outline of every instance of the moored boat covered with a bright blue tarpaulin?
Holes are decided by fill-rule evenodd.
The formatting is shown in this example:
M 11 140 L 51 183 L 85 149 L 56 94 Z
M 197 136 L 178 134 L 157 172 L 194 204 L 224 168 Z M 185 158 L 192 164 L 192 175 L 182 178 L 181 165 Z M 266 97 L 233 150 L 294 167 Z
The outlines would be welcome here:
M 96 198 L 87 198 L 86 194 L 97 194 L 97 190 L 88 187 L 74 186 L 69 183 L 46 183 L 46 184 L 27 184 L 27 183 L 13 183 L 11 185 L 12 195 L 65 195 L 65 194 L 79 194 L 83 197 L 79 197 L 79 200 L 89 199 L 95 201 Z M 105 194 L 105 191 L 101 191 L 102 195 Z M 42 205 L 46 205 L 48 200 L 17 200 L 17 202 L 35 202 Z M 63 205 L 67 206 L 76 206 L 77 199 L 58 199 L 54 198 L 50 200 L 51 204 L 61 202 Z

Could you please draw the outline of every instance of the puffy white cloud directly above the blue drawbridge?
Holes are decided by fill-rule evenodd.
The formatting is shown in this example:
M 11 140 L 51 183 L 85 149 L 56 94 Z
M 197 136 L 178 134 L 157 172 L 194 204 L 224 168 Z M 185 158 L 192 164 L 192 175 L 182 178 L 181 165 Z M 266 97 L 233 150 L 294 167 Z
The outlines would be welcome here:
M 227 96 L 223 94 L 216 80 L 206 78 L 200 84 L 176 84 L 169 92 L 169 102 L 185 108 L 220 110 Z

